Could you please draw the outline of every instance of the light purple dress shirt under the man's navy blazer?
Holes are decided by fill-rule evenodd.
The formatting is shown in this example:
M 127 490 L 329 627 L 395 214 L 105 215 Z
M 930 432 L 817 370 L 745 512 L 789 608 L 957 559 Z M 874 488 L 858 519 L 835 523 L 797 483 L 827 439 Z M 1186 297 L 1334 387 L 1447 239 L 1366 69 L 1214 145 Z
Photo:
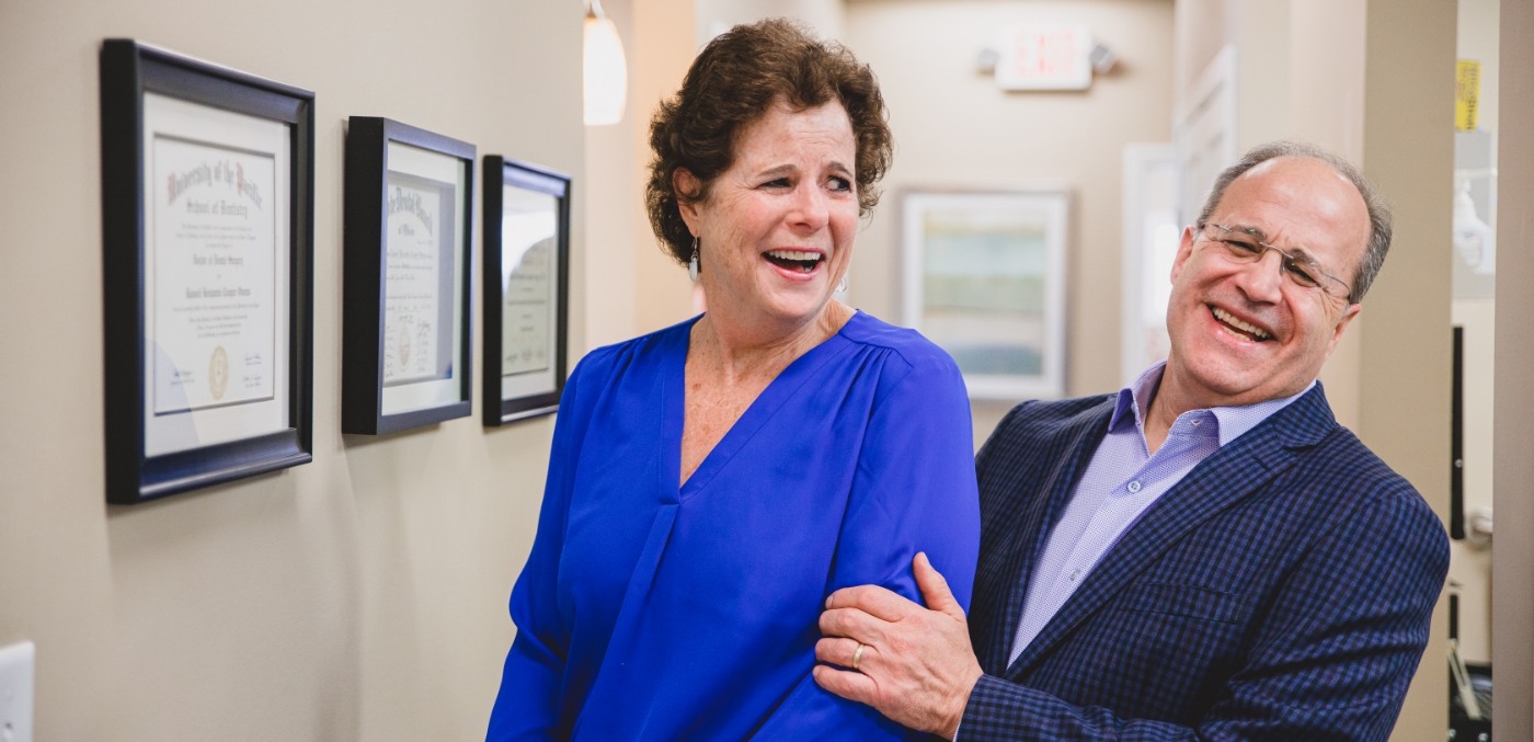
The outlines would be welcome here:
M 1312 382 L 1293 397 L 1256 405 L 1183 412 L 1152 455 L 1144 435 L 1144 415 L 1161 385 L 1164 368 L 1164 362 L 1150 366 L 1134 385 L 1118 392 L 1118 403 L 1108 420 L 1108 435 L 1092 454 L 1071 503 L 1049 532 L 1045 552 L 1034 566 L 1009 664 L 1017 661 L 1092 573 L 1108 549 L 1158 497 L 1220 446 L 1256 428 L 1315 386 Z

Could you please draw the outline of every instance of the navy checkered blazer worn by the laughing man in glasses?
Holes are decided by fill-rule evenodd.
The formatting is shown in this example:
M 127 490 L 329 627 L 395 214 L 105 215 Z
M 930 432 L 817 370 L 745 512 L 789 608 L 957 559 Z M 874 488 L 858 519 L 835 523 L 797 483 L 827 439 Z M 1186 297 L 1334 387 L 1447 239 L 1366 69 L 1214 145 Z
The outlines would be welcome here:
M 1019 405 L 977 457 L 969 635 L 986 675 L 959 739 L 1387 739 L 1448 540 L 1321 385 L 1167 491 L 1006 665 L 1034 561 L 1112 408 Z

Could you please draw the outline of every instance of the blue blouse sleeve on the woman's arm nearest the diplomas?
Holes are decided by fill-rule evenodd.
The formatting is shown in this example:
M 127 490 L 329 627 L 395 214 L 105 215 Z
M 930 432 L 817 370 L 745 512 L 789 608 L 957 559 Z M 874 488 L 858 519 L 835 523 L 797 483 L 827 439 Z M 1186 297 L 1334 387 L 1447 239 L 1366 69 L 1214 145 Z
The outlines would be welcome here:
M 560 396 L 538 529 L 528 563 L 511 592 L 511 618 L 517 624 L 517 638 L 506 655 L 486 740 L 557 739 L 569 734 L 561 727 L 569 719 L 560 719 L 558 699 L 571 636 L 569 624 L 560 612 L 557 586 L 575 463 L 591 420 L 591 397 L 595 396 L 594 389 L 581 391 L 588 376 L 589 365 L 583 360 L 571 373 Z

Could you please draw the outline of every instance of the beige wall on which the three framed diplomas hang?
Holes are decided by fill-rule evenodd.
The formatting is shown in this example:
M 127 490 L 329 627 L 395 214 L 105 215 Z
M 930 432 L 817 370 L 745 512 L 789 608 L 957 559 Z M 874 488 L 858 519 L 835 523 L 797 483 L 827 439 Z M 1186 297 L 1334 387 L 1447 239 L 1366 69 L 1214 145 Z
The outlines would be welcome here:
M 37 642 L 37 740 L 483 734 L 552 419 L 339 434 L 342 123 L 385 115 L 580 173 L 580 12 L 543 0 L 0 5 L 0 645 Z M 318 95 L 310 465 L 153 504 L 103 501 L 104 37 Z

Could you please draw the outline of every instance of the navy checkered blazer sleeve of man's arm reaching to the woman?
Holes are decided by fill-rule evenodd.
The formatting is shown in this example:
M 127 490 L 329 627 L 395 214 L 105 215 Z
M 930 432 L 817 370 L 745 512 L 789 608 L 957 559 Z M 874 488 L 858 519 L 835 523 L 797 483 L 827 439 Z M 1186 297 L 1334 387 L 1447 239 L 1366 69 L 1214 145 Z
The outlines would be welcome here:
M 1361 492 L 1345 515 L 1307 544 L 1197 725 L 1121 719 L 983 676 L 957 739 L 1388 739 L 1428 642 L 1448 541 L 1404 481 Z

